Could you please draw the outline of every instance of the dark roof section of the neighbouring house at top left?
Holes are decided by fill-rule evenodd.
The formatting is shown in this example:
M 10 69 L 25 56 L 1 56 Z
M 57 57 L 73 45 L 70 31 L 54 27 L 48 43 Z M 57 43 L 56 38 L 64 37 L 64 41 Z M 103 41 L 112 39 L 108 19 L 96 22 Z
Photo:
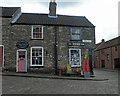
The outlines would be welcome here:
M 15 11 L 19 8 L 20 7 L 0 7 L 0 9 L 2 9 L 2 17 L 12 17 Z

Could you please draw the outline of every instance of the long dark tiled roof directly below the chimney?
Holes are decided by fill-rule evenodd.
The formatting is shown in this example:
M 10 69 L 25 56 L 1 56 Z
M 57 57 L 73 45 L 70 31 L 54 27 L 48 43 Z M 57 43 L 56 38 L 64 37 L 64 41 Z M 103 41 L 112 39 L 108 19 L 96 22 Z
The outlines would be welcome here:
M 50 18 L 48 14 L 38 13 L 22 13 L 15 24 L 95 27 L 85 16 L 57 15 L 57 18 Z

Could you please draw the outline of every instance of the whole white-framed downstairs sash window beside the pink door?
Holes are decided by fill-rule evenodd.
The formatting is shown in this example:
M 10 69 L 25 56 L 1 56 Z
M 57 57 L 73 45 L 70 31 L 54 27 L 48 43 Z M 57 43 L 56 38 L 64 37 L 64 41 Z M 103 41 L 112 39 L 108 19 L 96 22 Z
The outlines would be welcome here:
M 31 66 L 43 66 L 43 47 L 31 47 Z

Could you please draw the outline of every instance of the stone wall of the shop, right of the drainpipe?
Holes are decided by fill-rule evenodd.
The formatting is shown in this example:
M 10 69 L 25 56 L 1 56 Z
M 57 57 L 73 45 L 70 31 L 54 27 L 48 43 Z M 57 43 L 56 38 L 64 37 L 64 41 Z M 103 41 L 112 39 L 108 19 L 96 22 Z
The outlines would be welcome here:
M 75 41 L 75 40 L 71 40 L 70 38 L 70 28 L 71 27 L 62 27 L 59 26 L 57 27 L 57 55 L 58 56 L 67 56 L 67 58 L 63 58 L 61 60 L 59 60 L 58 58 L 58 69 L 59 67 L 62 70 L 66 70 L 67 68 L 67 64 L 69 64 L 69 49 L 70 48 L 79 48 L 81 49 L 81 51 L 83 51 L 83 49 L 94 49 L 95 48 L 95 29 L 94 28 L 82 28 L 82 32 L 81 32 L 81 37 L 82 40 L 91 40 L 92 42 L 84 42 L 84 46 L 69 46 L 68 42 L 72 42 L 72 43 L 83 43 L 82 40 L 80 41 Z M 89 55 L 92 55 L 92 50 L 90 50 Z M 81 56 L 81 63 L 82 63 L 83 57 Z M 77 67 L 72 68 L 72 73 L 74 73 L 74 71 L 77 69 Z M 78 68 L 79 69 L 79 68 Z

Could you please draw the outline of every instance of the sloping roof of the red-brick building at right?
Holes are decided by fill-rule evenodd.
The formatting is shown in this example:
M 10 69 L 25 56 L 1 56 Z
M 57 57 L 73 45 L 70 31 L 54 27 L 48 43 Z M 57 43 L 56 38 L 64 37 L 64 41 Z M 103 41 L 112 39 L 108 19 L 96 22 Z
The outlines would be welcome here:
M 120 36 L 118 36 L 114 39 L 111 39 L 109 41 L 106 41 L 106 42 L 101 42 L 99 44 L 101 44 L 101 45 L 99 46 L 99 48 L 97 48 L 96 51 L 106 49 L 106 48 L 109 48 L 112 46 L 120 45 Z M 98 44 L 96 44 L 96 45 L 98 46 Z

